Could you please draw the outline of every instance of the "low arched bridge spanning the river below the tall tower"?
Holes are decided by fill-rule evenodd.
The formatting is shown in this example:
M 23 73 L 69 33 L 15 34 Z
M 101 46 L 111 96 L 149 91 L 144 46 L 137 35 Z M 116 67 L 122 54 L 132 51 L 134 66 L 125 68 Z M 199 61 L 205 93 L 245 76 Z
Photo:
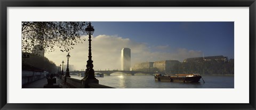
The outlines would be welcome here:
M 122 72 L 127 75 L 140 75 L 140 74 L 145 74 L 145 75 L 155 75 L 155 74 L 164 74 L 161 72 L 142 72 L 142 71 L 121 71 L 121 70 L 105 70 L 105 71 L 97 71 L 94 70 L 95 72 L 100 72 L 102 74 L 105 74 L 107 76 L 110 76 L 111 74 L 114 74 L 115 72 Z M 69 71 L 70 75 L 72 74 L 81 74 L 84 73 L 85 71 Z

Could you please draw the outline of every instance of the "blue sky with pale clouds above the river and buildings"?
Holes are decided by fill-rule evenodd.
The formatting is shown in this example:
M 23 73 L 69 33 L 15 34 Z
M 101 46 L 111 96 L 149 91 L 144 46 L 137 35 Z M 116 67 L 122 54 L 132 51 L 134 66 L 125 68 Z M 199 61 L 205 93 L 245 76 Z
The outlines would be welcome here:
M 234 59 L 234 22 L 91 22 L 94 70 L 121 69 L 122 48 L 131 49 L 131 66 L 139 62 L 225 56 Z M 70 50 L 69 65 L 85 69 L 86 41 Z M 59 66 L 67 52 L 45 53 Z

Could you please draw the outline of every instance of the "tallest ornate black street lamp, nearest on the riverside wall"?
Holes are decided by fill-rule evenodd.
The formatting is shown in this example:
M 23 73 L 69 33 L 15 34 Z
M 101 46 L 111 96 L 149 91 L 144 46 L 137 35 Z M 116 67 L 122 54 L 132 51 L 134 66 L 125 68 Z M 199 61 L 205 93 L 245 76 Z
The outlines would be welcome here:
M 89 34 L 89 60 L 87 60 L 86 70 L 85 70 L 85 76 L 84 79 L 96 79 L 94 77 L 94 70 L 93 70 L 93 61 L 92 61 L 92 50 L 91 50 L 91 35 L 94 32 L 93 26 L 91 25 L 91 22 L 89 22 L 89 25 L 87 25 L 85 29 L 86 33 Z

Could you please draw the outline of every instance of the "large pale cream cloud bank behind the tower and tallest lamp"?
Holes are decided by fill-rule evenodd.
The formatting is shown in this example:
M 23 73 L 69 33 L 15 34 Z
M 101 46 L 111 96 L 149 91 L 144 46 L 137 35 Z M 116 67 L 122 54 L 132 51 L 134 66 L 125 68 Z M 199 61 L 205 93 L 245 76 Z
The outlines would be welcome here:
M 89 44 L 87 41 L 74 45 L 74 49 L 70 50 L 69 65 L 74 65 L 76 70 L 86 68 L 86 61 L 88 60 Z M 121 69 L 121 49 L 131 49 L 131 63 L 157 61 L 157 60 L 179 60 L 183 61 L 186 58 L 201 57 L 201 51 L 175 49 L 173 52 L 165 52 L 163 50 L 169 49 L 169 45 L 157 45 L 156 48 L 161 51 L 152 50 L 147 43 L 136 42 L 130 39 L 124 39 L 117 35 L 98 35 L 92 36 L 92 60 L 94 70 L 113 70 Z M 155 48 L 155 49 L 156 49 Z M 59 66 L 62 60 L 67 62 L 68 53 L 55 51 L 45 53 L 45 57 L 49 58 Z

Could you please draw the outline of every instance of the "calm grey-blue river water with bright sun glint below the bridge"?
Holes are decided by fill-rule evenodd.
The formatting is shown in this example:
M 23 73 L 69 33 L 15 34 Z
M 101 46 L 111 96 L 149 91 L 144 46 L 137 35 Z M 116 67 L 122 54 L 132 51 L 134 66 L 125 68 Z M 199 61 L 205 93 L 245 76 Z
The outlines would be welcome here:
M 71 76 L 83 79 L 83 77 Z M 155 81 L 151 75 L 113 75 L 97 77 L 99 84 L 114 88 L 234 88 L 234 76 L 202 76 L 199 82 Z

